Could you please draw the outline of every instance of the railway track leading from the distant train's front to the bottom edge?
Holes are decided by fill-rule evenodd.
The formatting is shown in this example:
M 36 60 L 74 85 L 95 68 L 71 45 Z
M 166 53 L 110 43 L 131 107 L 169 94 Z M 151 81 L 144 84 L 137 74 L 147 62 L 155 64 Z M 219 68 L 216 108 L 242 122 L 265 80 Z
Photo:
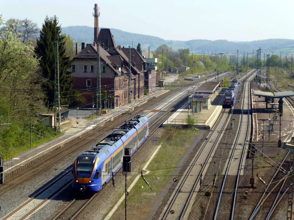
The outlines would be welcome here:
M 223 135 L 221 131 L 225 128 L 226 122 L 229 121 L 229 114 L 224 117 L 225 111 L 226 109 L 223 109 L 213 131 L 211 131 L 206 142 L 203 143 L 181 180 L 179 180 L 159 219 L 188 219 L 194 198 L 200 188 L 201 175 L 205 175 L 209 160 L 211 160 L 211 156 L 215 152 L 215 146 Z

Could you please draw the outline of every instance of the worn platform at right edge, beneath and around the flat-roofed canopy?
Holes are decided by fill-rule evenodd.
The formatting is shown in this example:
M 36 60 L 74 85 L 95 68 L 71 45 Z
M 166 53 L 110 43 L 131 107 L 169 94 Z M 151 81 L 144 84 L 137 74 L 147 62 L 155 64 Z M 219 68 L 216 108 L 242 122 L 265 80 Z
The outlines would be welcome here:
M 278 140 L 281 142 L 290 142 L 294 136 L 294 111 L 293 107 L 283 99 L 283 115 L 271 109 L 270 105 L 266 105 L 265 97 L 253 95 L 258 91 L 256 82 L 251 82 L 252 89 L 252 118 L 253 118 L 253 136 L 252 143 L 255 147 L 263 152 L 267 157 L 276 157 L 280 150 Z M 254 91 L 253 91 L 254 90 Z M 278 99 L 274 99 L 278 103 Z M 278 105 L 276 105 L 278 107 Z M 268 107 L 268 108 L 266 108 Z M 258 152 L 261 156 L 262 153 Z

